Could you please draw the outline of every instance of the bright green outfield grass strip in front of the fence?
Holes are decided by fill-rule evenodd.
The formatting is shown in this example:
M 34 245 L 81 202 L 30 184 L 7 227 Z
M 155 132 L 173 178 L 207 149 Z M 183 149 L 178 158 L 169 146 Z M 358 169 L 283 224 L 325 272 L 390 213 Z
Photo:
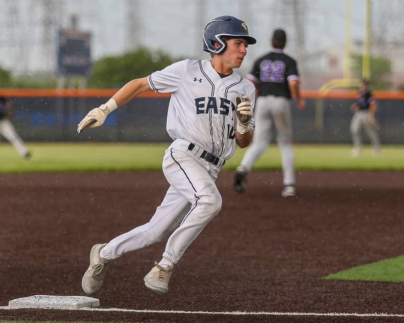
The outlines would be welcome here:
M 0 144 L 0 173 L 161 170 L 169 143 L 28 143 L 32 158 L 20 158 L 8 143 Z M 374 157 L 369 146 L 352 158 L 350 145 L 294 145 L 296 170 L 404 170 L 404 146 L 383 146 Z M 236 149 L 225 170 L 234 170 L 246 149 Z M 278 170 L 277 145 L 258 159 L 255 169 Z

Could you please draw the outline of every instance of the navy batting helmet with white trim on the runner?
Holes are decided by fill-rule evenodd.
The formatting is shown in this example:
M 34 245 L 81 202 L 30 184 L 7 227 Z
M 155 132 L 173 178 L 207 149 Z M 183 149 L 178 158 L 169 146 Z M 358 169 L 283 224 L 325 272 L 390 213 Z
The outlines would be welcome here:
M 220 16 L 208 22 L 204 29 L 204 50 L 218 54 L 226 49 L 226 42 L 222 36 L 245 38 L 249 45 L 255 44 L 257 40 L 248 35 L 247 24 L 233 16 Z M 215 42 L 220 47 L 215 48 Z

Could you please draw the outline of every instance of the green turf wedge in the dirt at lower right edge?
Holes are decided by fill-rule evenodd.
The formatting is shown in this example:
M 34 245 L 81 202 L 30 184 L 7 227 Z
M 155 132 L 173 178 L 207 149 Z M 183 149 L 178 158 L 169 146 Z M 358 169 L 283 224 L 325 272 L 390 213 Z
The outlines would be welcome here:
M 324 279 L 401 283 L 404 282 L 404 256 L 353 267 Z

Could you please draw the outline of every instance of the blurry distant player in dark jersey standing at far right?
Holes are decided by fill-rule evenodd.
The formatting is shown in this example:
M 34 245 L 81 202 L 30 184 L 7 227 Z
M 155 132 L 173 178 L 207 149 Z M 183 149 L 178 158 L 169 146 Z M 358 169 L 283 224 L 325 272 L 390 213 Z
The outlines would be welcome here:
M 375 119 L 376 101 L 372 97 L 372 92 L 369 89 L 369 81 L 361 80 L 358 92 L 358 101 L 350 106 L 354 117 L 350 123 L 350 133 L 354 141 L 352 156 L 356 157 L 361 154 L 361 128 L 364 127 L 368 134 L 372 146 L 373 153 L 378 156 L 380 153 L 380 140 L 377 134 L 377 121 Z

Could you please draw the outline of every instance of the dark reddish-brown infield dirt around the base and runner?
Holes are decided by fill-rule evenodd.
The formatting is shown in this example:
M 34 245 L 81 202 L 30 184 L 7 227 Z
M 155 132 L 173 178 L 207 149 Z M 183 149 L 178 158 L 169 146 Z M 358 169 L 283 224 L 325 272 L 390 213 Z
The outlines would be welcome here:
M 280 173 L 254 172 L 240 195 L 233 173 L 223 172 L 222 210 L 174 268 L 168 296 L 143 285 L 164 240 L 114 260 L 94 297 L 106 308 L 403 314 L 402 283 L 321 278 L 403 254 L 404 173 L 302 172 L 297 183 L 298 198 L 282 198 Z M 147 222 L 167 188 L 161 172 L 0 174 L 0 306 L 37 294 L 84 295 L 91 246 Z M 0 319 L 404 321 L 27 309 L 0 309 Z

